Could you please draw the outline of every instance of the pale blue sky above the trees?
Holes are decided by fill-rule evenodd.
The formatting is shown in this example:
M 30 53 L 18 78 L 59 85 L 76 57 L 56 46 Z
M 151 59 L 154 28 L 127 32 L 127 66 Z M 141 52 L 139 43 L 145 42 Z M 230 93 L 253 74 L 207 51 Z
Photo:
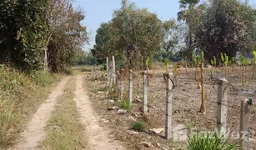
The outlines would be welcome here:
M 158 18 L 165 21 L 177 18 L 179 11 L 178 0 L 130 0 L 137 7 L 147 7 L 151 13 L 158 14 Z M 113 10 L 121 7 L 121 0 L 76 0 L 74 7 L 81 7 L 85 12 L 85 20 L 82 22 L 87 27 L 90 45 L 84 45 L 88 51 L 95 43 L 96 31 L 101 23 L 107 23 L 112 19 Z

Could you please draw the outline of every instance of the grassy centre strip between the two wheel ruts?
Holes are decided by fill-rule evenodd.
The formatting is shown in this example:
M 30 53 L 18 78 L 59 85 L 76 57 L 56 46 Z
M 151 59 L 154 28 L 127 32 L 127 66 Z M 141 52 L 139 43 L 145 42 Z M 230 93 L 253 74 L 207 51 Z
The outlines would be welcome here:
M 75 78 L 68 81 L 62 96 L 58 97 L 56 110 L 49 118 L 47 137 L 40 144 L 43 149 L 83 149 L 86 145 L 84 128 L 79 122 L 76 102 L 73 101 Z

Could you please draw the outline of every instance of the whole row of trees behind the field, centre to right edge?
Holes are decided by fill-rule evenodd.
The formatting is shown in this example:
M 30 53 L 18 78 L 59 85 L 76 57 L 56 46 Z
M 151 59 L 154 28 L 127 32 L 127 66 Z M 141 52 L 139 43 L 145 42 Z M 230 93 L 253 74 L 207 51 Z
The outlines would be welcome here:
M 163 62 L 193 61 L 193 52 L 220 61 L 220 53 L 235 57 L 256 47 L 256 9 L 248 1 L 180 0 L 178 20 L 161 21 L 147 8 L 122 0 L 108 23 L 97 30 L 91 50 L 98 62 L 117 56 L 128 67 L 147 57 Z

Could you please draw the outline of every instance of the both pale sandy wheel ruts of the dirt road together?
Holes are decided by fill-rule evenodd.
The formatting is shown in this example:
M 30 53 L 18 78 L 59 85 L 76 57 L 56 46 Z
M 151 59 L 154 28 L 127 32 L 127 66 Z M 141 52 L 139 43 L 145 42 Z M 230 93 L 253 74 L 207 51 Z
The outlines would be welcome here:
M 38 108 L 38 111 L 28 123 L 28 127 L 21 133 L 20 142 L 12 148 L 13 150 L 42 149 L 38 147 L 38 143 L 42 142 L 46 136 L 44 128 L 47 126 L 48 118 L 51 117 L 54 106 L 57 104 L 57 97 L 62 95 L 69 78 L 64 77 L 58 84 L 58 87 L 49 94 L 46 101 Z M 83 82 L 85 82 L 83 76 L 78 75 L 76 79 L 75 97 L 73 100 L 77 102 L 78 112 L 81 115 L 80 122 L 86 128 L 86 132 L 84 133 L 88 139 L 86 149 L 123 149 L 120 144 L 108 137 L 108 128 L 103 128 L 99 125 L 98 115 L 93 111 L 86 89 L 83 86 Z

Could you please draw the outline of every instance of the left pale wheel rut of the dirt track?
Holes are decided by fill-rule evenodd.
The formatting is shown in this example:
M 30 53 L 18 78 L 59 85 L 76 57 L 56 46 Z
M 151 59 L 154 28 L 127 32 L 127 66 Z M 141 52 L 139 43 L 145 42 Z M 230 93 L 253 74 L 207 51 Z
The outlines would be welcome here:
M 21 133 L 21 141 L 12 148 L 13 150 L 39 149 L 38 142 L 43 141 L 45 137 L 44 127 L 48 122 L 48 118 L 51 116 L 51 112 L 53 112 L 58 99 L 57 97 L 63 93 L 63 88 L 68 82 L 68 79 L 69 77 L 64 77 L 53 92 L 48 95 L 46 101 L 38 108 L 28 123 L 28 127 Z

